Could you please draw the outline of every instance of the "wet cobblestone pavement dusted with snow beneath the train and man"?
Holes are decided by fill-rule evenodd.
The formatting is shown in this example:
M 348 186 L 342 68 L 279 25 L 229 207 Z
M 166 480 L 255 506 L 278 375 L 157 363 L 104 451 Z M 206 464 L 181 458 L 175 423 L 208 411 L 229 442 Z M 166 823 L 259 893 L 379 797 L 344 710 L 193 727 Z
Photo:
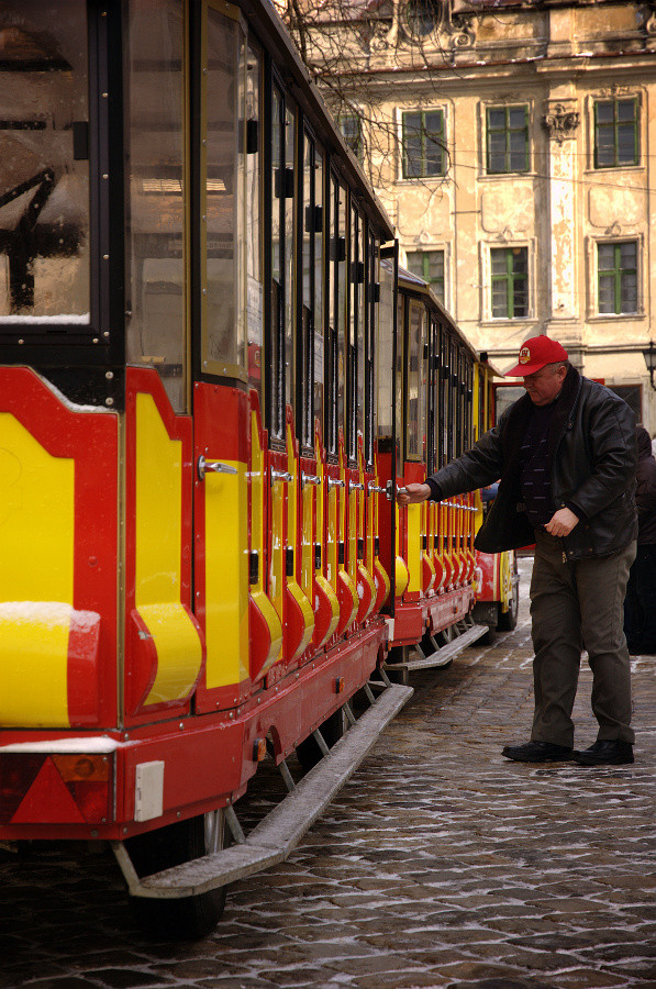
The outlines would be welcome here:
M 143 940 L 109 855 L 0 865 L 0 986 L 656 987 L 656 657 L 634 662 L 636 763 L 509 763 L 532 713 L 526 571 L 513 633 L 415 694 L 287 863 L 216 933 Z M 581 675 L 577 745 L 594 740 Z

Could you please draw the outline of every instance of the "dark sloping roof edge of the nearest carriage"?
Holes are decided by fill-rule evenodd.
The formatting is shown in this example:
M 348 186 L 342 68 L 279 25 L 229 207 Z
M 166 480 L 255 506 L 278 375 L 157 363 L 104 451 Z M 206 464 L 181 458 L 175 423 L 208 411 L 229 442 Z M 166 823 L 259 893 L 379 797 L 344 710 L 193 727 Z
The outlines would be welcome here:
M 296 44 L 281 21 L 271 0 L 236 0 L 240 9 L 260 36 L 274 62 L 281 70 L 290 95 L 302 107 L 314 126 L 318 140 L 326 151 L 337 153 L 337 167 L 343 177 L 365 193 L 359 205 L 369 220 L 391 240 L 394 229 L 369 179 L 346 144 L 333 115 L 325 105 L 319 88 L 303 64 Z

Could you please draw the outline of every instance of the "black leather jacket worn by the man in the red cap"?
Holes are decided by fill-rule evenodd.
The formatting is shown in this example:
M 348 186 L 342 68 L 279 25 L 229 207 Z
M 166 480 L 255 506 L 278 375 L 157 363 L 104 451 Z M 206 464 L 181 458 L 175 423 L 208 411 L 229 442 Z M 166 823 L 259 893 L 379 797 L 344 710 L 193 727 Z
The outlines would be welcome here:
M 532 408 L 529 395 L 522 396 L 471 449 L 427 479 L 432 497 L 442 499 L 501 478 L 475 541 L 483 553 L 535 542 L 520 487 L 520 447 Z M 636 538 L 635 420 L 626 402 L 569 367 L 549 424 L 548 451 L 556 508 L 569 505 L 579 515 L 563 540 L 567 557 L 609 556 Z

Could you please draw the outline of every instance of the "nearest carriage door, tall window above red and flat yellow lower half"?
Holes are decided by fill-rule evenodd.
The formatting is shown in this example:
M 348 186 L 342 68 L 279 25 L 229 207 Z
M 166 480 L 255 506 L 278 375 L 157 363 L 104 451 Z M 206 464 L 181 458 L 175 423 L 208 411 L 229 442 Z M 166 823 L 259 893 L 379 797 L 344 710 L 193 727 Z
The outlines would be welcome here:
M 233 707 L 248 669 L 245 119 L 247 47 L 236 8 L 200 9 L 200 204 L 193 382 L 194 594 L 207 644 L 197 709 Z

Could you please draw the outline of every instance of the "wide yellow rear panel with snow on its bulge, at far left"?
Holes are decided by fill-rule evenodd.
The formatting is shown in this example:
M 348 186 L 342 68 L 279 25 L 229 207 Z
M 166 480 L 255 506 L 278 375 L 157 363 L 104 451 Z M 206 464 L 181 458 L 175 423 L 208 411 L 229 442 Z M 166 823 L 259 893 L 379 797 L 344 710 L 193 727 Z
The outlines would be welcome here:
M 68 727 L 75 462 L 0 414 L 0 723 Z

